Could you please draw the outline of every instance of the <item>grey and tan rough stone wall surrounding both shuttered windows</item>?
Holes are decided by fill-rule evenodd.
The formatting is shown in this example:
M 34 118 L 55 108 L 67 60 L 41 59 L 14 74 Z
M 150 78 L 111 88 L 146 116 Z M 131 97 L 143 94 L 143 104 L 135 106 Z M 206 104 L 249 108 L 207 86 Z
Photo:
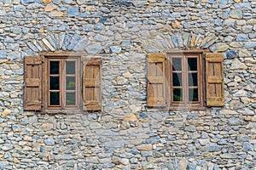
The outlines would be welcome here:
M 254 0 L 2 0 L 1 169 L 253 169 L 256 164 Z M 224 53 L 223 108 L 146 105 L 146 55 Z M 102 111 L 23 111 L 24 56 L 101 56 Z

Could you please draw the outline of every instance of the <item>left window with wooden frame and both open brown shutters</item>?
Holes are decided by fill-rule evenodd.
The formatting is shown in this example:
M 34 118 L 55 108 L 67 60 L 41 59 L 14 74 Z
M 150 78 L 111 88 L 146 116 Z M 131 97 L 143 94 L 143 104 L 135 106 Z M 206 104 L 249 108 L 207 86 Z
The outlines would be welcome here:
M 73 54 L 25 57 L 25 111 L 101 111 L 102 59 Z

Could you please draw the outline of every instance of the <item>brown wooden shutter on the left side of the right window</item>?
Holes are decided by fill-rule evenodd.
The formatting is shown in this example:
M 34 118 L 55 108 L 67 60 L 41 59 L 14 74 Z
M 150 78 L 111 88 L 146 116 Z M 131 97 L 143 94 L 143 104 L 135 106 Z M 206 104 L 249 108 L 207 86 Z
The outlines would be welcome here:
M 166 107 L 165 54 L 148 54 L 148 107 Z

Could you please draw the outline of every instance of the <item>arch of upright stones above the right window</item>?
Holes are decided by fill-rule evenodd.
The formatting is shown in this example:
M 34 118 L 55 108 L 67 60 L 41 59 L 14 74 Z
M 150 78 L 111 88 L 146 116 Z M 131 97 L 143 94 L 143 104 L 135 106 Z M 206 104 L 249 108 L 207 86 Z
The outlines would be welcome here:
M 207 49 L 217 41 L 218 37 L 214 34 L 206 36 L 192 32 L 171 32 L 141 42 L 147 53 L 159 53 L 166 49 Z

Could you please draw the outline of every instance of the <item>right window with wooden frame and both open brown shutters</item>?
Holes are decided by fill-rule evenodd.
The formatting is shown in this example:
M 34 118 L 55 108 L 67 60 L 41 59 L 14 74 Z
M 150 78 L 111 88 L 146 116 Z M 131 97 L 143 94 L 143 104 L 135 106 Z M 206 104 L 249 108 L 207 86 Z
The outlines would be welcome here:
M 148 54 L 148 107 L 193 110 L 222 106 L 223 70 L 223 54 Z

